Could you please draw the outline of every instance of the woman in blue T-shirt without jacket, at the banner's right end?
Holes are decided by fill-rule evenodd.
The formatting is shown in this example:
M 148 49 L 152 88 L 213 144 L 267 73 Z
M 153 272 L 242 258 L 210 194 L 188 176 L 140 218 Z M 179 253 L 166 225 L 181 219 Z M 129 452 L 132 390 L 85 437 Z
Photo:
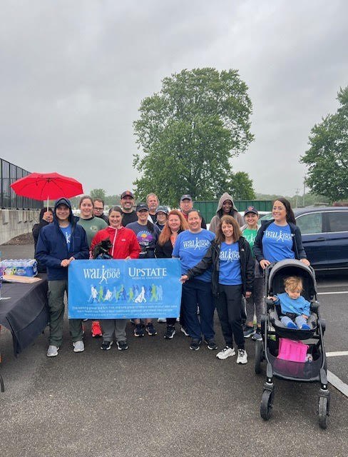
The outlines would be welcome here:
M 179 233 L 173 248 L 173 257 L 180 258 L 183 275 L 202 260 L 208 251 L 210 242 L 215 238 L 213 232 L 202 229 L 202 218 L 197 209 L 188 211 L 187 221 L 188 230 Z M 192 351 L 198 351 L 200 348 L 202 334 L 209 349 L 218 349 L 214 340 L 215 306 L 210 283 L 211 270 L 206 268 L 206 271 L 203 271 L 197 278 L 183 284 L 183 321 L 192 338 L 190 343 Z M 197 305 L 200 310 L 200 319 L 197 315 Z

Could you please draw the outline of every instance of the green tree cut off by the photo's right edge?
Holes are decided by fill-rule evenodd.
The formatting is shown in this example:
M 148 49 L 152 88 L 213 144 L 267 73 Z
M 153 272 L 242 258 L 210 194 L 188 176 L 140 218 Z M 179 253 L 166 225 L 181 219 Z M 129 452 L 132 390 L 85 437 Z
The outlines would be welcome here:
M 308 166 L 309 189 L 332 201 L 348 198 L 348 86 L 339 89 L 337 100 L 337 113 L 314 125 L 309 135 L 311 147 L 301 157 Z

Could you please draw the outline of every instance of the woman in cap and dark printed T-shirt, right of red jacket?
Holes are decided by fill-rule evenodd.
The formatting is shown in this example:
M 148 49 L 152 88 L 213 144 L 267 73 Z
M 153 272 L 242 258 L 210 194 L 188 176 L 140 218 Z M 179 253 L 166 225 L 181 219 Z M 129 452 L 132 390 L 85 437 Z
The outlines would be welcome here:
M 128 224 L 128 229 L 133 230 L 140 244 L 141 252 L 139 258 L 155 258 L 155 244 L 160 236 L 160 229 L 148 220 L 149 212 L 147 204 L 139 203 L 136 207 L 136 214 L 138 221 Z M 142 291 L 142 293 L 145 293 L 145 291 Z M 140 319 L 134 319 L 134 322 L 134 336 L 144 336 L 144 326 Z M 145 331 L 148 332 L 149 336 L 157 335 L 152 319 L 145 319 Z

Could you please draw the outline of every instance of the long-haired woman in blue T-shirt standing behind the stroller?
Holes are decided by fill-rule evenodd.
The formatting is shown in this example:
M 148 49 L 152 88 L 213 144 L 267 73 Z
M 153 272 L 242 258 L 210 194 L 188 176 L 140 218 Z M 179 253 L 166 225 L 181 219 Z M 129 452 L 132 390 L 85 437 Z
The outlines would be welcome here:
M 297 258 L 309 265 L 290 202 L 283 198 L 275 200 L 272 216 L 274 219 L 262 224 L 254 242 L 254 254 L 260 267 L 265 270 L 272 262 L 285 258 Z

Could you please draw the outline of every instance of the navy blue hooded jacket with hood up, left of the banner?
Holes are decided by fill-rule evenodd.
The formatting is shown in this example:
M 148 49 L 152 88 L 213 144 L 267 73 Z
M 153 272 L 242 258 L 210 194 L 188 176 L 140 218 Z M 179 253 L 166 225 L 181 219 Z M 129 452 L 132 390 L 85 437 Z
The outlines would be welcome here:
M 68 220 L 71 223 L 69 248 L 56 216 L 56 209 L 59 204 L 65 204 L 69 209 Z M 88 258 L 88 256 L 86 231 L 81 226 L 76 225 L 70 201 L 68 199 L 58 199 L 54 204 L 53 224 L 48 224 L 41 229 L 36 245 L 36 258 L 47 267 L 48 281 L 68 278 L 68 268 L 61 266 L 61 261 L 64 258 L 81 259 Z

